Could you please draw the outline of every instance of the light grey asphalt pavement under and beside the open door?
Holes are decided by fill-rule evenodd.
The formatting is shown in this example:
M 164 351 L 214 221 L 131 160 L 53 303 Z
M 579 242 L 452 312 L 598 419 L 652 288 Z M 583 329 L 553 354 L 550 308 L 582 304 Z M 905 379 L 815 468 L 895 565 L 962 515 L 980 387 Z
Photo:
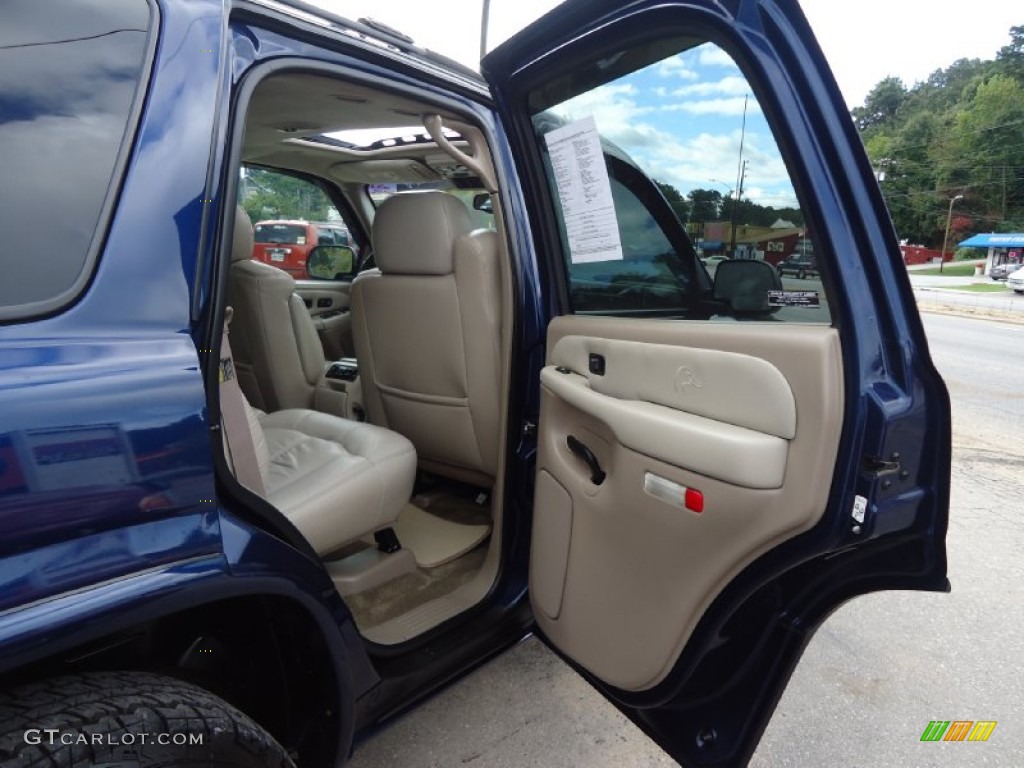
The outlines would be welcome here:
M 752 766 L 1024 765 L 1024 326 L 925 315 L 953 402 L 951 594 L 851 601 L 811 641 Z M 987 742 L 922 742 L 995 720 Z M 536 639 L 360 744 L 352 768 L 674 765 Z

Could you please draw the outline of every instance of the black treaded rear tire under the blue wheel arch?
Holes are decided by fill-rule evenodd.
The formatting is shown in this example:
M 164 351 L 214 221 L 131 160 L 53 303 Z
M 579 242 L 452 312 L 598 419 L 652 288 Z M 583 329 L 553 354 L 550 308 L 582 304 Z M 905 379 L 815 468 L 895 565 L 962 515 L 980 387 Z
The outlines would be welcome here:
M 0 693 L 0 766 L 295 768 L 223 699 L 144 672 L 68 675 Z

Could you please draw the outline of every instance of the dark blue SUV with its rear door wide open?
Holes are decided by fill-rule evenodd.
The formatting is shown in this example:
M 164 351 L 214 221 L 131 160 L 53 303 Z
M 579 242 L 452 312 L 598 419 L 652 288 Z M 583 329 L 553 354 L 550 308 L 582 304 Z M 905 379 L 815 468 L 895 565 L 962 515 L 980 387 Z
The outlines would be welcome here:
M 568 0 L 482 76 L 299 2 L 4 13 L 0 764 L 339 766 L 536 633 L 739 766 L 840 605 L 949 589 L 948 395 L 795 2 Z M 711 279 L 682 71 L 842 280 Z M 296 282 L 240 204 L 313 191 Z

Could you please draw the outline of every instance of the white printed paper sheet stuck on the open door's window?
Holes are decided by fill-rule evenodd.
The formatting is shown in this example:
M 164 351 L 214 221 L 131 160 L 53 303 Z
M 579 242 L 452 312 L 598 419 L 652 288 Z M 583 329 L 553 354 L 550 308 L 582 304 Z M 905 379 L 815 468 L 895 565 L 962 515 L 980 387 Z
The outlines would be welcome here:
M 594 118 L 556 128 L 544 140 L 562 204 L 569 260 L 573 264 L 621 261 L 618 220 Z

